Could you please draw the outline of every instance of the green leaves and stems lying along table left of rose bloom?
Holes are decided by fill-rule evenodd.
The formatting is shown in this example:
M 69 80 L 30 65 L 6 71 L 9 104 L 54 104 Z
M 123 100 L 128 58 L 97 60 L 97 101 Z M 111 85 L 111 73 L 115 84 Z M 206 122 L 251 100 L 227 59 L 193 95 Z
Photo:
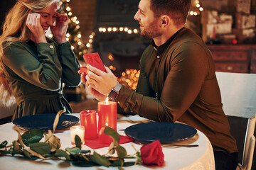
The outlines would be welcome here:
M 63 111 L 60 111 L 56 117 L 59 117 Z M 55 118 L 54 124 L 58 124 L 58 118 Z M 40 159 L 65 159 L 65 162 L 70 162 L 74 166 L 117 166 L 122 169 L 122 166 L 132 166 L 136 162 L 124 162 L 124 159 L 135 158 L 127 156 L 127 151 L 119 145 L 119 134 L 110 127 L 105 127 L 105 134 L 110 135 L 113 142 L 110 144 L 107 154 L 100 155 L 97 152 L 91 153 L 90 150 L 82 150 L 81 139 L 78 135 L 75 136 L 75 147 L 67 147 L 65 150 L 60 148 L 60 139 L 53 135 L 53 132 L 48 130 L 48 135 L 45 134 L 45 142 L 41 142 L 43 138 L 43 130 L 31 129 L 23 133 L 18 132 L 18 140 L 14 140 L 12 145 L 7 146 L 7 141 L 1 142 L 0 154 L 20 154 L 29 159 L 35 159 L 36 156 Z M 9 148 L 10 147 L 10 148 Z M 9 149 L 8 149 L 9 148 Z M 110 155 L 117 153 L 117 157 Z M 139 152 L 137 152 L 139 155 Z

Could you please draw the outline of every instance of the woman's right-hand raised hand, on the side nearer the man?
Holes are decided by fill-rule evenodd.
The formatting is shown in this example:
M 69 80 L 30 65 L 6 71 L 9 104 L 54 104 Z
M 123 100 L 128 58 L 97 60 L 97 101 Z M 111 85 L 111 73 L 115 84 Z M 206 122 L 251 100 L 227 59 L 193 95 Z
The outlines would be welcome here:
M 67 14 L 58 13 L 55 26 L 50 27 L 50 31 L 53 33 L 55 40 L 58 43 L 67 42 L 65 33 L 68 29 L 68 16 Z

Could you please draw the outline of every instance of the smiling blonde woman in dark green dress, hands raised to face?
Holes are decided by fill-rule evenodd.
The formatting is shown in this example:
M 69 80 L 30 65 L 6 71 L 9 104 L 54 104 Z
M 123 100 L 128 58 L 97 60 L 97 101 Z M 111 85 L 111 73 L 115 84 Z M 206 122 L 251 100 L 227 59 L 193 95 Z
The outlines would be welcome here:
M 0 37 L 1 94 L 9 90 L 16 98 L 12 120 L 62 109 L 72 113 L 63 83 L 80 84 L 79 64 L 65 38 L 68 16 L 58 8 L 59 0 L 18 0 L 6 16 Z M 54 40 L 46 38 L 47 30 Z

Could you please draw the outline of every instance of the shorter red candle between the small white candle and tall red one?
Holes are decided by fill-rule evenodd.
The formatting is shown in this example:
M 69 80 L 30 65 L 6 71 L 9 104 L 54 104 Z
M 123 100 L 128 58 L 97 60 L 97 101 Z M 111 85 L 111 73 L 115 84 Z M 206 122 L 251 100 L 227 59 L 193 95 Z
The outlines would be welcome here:
M 94 140 L 97 138 L 96 111 L 81 111 L 80 125 L 85 127 L 85 140 Z

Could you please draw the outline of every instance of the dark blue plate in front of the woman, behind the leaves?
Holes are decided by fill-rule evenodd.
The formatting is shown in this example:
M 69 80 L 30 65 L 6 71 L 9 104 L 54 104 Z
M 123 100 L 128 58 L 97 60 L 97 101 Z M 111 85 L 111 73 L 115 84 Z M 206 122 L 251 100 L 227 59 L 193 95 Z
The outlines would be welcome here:
M 26 115 L 21 118 L 14 119 L 14 125 L 25 129 L 41 129 L 41 130 L 53 130 L 53 123 L 56 117 L 56 113 L 44 113 L 38 115 Z M 79 118 L 74 115 L 60 115 L 60 119 L 57 129 L 67 128 L 71 125 L 75 125 L 79 122 Z

